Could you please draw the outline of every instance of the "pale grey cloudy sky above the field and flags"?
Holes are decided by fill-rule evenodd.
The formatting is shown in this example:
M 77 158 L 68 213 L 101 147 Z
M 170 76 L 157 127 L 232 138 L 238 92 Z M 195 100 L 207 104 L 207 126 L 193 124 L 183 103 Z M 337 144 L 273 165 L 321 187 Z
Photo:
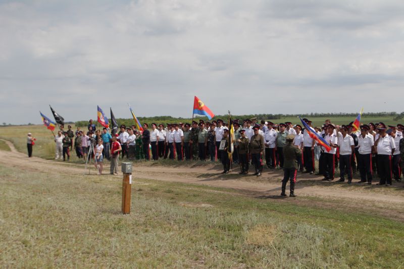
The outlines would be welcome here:
M 404 111 L 403 1 L 0 1 L 0 124 Z

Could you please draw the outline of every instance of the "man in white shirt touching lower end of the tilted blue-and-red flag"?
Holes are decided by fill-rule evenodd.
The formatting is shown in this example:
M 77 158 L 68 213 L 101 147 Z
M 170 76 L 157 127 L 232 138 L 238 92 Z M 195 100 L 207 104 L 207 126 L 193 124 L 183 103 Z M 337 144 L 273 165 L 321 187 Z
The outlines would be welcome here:
M 332 181 L 335 175 L 335 153 L 337 152 L 337 136 L 334 134 L 335 127 L 332 124 L 327 126 L 327 135 L 324 140 L 330 145 L 330 151 L 324 151 L 324 179 Z

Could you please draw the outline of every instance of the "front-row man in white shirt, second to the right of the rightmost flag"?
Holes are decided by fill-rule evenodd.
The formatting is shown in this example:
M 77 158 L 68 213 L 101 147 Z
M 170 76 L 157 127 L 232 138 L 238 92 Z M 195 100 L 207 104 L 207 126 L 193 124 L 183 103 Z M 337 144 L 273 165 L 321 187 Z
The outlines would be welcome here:
M 379 123 L 377 126 L 379 137 L 375 141 L 377 148 L 377 169 L 379 171 L 380 182 L 376 185 L 391 186 L 391 154 L 394 154 L 394 139 L 386 134 L 386 125 Z

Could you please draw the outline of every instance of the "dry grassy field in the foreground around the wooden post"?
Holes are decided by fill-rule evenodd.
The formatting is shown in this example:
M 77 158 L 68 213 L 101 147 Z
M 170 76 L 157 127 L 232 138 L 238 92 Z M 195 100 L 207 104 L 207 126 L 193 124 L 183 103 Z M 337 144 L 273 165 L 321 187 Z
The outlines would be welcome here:
M 2 267 L 400 267 L 404 224 L 226 189 L 0 166 Z

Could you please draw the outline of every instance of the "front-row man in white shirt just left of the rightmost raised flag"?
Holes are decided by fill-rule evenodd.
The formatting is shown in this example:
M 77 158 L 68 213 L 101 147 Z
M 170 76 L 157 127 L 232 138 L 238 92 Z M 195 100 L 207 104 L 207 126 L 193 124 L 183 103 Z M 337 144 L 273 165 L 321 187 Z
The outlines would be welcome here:
M 342 137 L 338 139 L 339 146 L 339 173 L 340 179 L 337 182 L 345 181 L 345 172 L 348 174 L 348 184 L 352 182 L 352 154 L 355 154 L 354 138 L 348 135 L 348 127 L 341 126 Z

